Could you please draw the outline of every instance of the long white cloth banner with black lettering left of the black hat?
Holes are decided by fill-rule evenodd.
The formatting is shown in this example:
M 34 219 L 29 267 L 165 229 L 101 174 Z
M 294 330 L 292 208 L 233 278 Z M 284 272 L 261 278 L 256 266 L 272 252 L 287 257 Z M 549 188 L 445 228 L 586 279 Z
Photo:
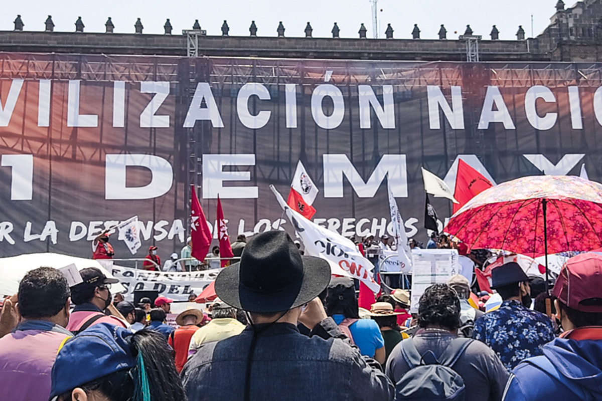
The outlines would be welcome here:
M 199 294 L 215 280 L 220 269 L 199 272 L 154 272 L 122 266 L 111 268 L 111 274 L 125 287 L 123 297 L 134 301 L 134 291 L 156 290 L 174 301 L 188 301 L 191 293 Z

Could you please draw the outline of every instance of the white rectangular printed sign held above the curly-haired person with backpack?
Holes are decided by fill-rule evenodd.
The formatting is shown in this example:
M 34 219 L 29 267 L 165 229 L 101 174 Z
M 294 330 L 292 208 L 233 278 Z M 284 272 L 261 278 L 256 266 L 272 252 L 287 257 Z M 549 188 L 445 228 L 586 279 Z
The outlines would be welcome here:
M 433 284 L 445 284 L 458 274 L 457 249 L 412 249 L 412 299 L 410 313 L 418 313 L 420 297 Z

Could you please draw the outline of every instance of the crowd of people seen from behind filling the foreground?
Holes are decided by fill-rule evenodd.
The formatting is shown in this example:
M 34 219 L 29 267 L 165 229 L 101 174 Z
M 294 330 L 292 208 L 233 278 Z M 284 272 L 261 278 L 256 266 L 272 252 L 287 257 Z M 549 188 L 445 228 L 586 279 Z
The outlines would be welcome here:
M 471 303 L 477 289 L 456 275 L 428 287 L 412 313 L 404 289 L 359 308 L 354 281 L 331 277 L 284 231 L 238 248 L 240 263 L 214 283 L 219 298 L 179 313 L 178 328 L 166 324 L 172 299 L 125 301 L 99 269 L 82 269 L 71 287 L 56 269 L 32 269 L 0 311 L 0 399 L 602 399 L 598 254 L 565 263 L 542 292 L 547 316 L 514 262 L 492 269 L 495 310 Z

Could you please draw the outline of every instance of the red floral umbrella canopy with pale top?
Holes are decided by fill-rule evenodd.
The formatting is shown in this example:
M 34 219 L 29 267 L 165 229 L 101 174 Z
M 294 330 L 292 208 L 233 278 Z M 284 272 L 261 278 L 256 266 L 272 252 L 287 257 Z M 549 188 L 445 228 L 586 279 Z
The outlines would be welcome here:
M 544 255 L 602 246 L 602 185 L 572 176 L 533 176 L 486 189 L 450 218 L 446 233 L 473 248 Z

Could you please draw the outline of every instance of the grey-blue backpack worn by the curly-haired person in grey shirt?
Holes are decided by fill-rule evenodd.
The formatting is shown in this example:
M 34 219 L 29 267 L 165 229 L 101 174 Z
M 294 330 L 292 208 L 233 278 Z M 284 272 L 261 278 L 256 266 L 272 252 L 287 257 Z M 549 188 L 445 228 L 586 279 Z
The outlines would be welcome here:
M 464 379 L 452 366 L 472 342 L 454 338 L 437 359 L 431 350 L 420 355 L 412 338 L 403 340 L 402 355 L 410 370 L 395 385 L 396 401 L 466 401 Z

